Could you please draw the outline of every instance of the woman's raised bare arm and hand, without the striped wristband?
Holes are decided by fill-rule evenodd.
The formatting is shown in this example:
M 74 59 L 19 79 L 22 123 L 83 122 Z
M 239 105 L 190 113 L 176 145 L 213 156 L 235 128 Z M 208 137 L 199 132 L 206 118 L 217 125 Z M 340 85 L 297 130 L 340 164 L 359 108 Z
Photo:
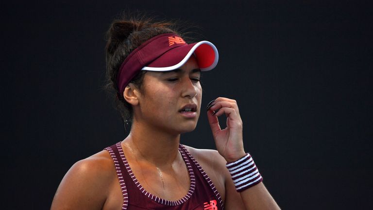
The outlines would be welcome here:
M 211 126 L 215 144 L 219 154 L 226 162 L 234 162 L 246 155 L 243 148 L 242 120 L 239 116 L 238 106 L 235 100 L 217 98 L 207 107 L 207 118 Z M 218 110 L 216 112 L 212 110 Z M 220 128 L 218 117 L 225 114 L 227 127 Z M 224 160 L 223 160 L 224 161 Z M 224 163 L 225 164 L 225 163 Z M 250 187 L 240 193 L 235 192 L 236 187 L 229 173 L 226 173 L 226 207 L 234 209 L 234 202 L 241 197 L 246 210 L 279 210 L 280 208 L 265 188 L 263 182 Z

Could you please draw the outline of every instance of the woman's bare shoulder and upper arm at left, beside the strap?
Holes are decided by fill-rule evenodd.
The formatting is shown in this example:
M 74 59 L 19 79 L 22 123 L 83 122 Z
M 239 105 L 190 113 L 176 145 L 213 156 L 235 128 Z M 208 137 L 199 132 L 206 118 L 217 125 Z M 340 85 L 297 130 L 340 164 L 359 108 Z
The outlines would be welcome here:
M 115 180 L 113 160 L 107 151 L 79 160 L 62 179 L 51 209 L 101 209 Z

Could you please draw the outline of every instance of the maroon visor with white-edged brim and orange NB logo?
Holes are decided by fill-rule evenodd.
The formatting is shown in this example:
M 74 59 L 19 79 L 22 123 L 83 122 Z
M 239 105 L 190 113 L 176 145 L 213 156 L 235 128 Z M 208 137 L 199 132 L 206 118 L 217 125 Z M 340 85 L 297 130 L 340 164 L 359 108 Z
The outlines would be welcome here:
M 179 69 L 192 54 L 195 55 L 201 71 L 212 70 L 218 64 L 218 50 L 211 42 L 187 44 L 175 34 L 154 36 L 130 53 L 121 64 L 117 75 L 119 93 L 123 93 L 124 88 L 140 70 Z

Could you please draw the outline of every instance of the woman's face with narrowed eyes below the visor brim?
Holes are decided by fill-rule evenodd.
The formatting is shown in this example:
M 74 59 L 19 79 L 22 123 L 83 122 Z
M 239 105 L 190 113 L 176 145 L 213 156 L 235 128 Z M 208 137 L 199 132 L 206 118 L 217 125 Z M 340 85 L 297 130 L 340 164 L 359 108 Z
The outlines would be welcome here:
M 194 56 L 178 70 L 147 72 L 134 117 L 169 133 L 194 130 L 201 108 L 200 76 Z

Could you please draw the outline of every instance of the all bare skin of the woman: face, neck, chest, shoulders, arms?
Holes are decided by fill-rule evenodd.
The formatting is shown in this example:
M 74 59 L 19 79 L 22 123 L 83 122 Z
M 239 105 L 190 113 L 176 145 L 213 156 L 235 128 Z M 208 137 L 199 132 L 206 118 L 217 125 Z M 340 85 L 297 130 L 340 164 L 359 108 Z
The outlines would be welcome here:
M 167 200 L 178 200 L 189 189 L 190 180 L 178 146 L 180 134 L 193 131 L 201 112 L 200 71 L 192 56 L 180 70 L 149 71 L 143 87 L 129 84 L 123 96 L 134 108 L 129 136 L 121 142 L 123 152 L 137 180 L 148 192 Z M 196 105 L 196 116 L 188 118 L 179 110 Z M 214 114 L 213 110 L 219 111 Z M 203 110 L 205 112 L 205 110 Z M 218 117 L 227 117 L 221 129 Z M 220 193 L 227 210 L 280 209 L 263 183 L 241 193 L 226 162 L 243 157 L 242 120 L 237 102 L 219 97 L 207 111 L 216 150 L 186 146 Z M 129 192 L 131 193 L 131 192 Z M 118 210 L 123 198 L 113 160 L 107 151 L 76 162 L 61 181 L 51 210 Z

